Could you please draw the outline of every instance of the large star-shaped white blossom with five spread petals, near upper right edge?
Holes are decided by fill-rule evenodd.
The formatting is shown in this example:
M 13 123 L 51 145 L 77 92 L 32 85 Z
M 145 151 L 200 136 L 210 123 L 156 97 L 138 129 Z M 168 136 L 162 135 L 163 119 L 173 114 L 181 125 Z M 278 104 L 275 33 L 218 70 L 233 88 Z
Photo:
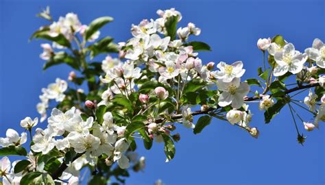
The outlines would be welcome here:
M 289 43 L 283 47 L 282 51 L 274 53 L 274 60 L 278 64 L 274 69 L 274 76 L 285 75 L 288 71 L 297 74 L 302 71 L 304 62 L 307 60 L 306 53 L 300 53 Z

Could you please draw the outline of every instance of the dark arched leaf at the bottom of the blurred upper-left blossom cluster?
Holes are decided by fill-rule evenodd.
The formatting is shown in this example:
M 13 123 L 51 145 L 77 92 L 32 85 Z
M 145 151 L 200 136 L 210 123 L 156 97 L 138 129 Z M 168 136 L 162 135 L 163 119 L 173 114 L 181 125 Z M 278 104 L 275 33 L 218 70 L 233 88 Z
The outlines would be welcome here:
M 58 52 L 55 56 L 52 56 L 49 61 L 47 61 L 44 66 L 43 70 L 48 69 L 50 66 L 58 65 L 58 64 L 68 64 L 73 69 L 77 69 L 79 71 L 79 63 L 75 58 L 69 56 L 69 54 L 65 52 Z

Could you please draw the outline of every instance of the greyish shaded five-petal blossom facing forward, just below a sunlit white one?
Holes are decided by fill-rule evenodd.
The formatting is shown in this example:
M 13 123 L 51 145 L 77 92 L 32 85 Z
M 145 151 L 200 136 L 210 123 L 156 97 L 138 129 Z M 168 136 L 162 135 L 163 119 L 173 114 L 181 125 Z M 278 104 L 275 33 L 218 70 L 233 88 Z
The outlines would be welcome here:
M 250 91 L 250 86 L 235 77 L 231 82 L 224 82 L 223 79 L 217 80 L 217 86 L 222 91 L 219 96 L 218 105 L 225 107 L 231 104 L 232 108 L 240 108 L 243 105 L 243 97 Z

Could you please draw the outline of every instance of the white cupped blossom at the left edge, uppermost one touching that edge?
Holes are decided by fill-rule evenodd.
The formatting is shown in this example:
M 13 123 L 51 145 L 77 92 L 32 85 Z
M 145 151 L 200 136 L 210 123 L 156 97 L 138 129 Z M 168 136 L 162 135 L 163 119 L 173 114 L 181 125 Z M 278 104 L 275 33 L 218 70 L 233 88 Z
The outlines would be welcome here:
M 8 129 L 7 132 L 5 132 L 5 136 L 5 138 L 0 138 L 1 147 L 8 147 L 10 145 L 19 146 L 27 141 L 26 132 L 21 133 L 21 136 L 19 136 L 16 130 Z

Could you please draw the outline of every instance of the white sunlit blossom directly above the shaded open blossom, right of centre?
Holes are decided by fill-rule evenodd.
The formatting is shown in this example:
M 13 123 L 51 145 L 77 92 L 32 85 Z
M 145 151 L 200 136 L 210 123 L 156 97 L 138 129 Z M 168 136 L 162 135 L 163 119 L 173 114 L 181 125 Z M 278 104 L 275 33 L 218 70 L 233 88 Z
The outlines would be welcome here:
M 234 62 L 231 65 L 225 62 L 219 62 L 217 68 L 220 71 L 213 71 L 211 74 L 217 79 L 222 79 L 223 82 L 231 82 L 235 77 L 241 77 L 245 73 L 243 62 L 241 61 Z

